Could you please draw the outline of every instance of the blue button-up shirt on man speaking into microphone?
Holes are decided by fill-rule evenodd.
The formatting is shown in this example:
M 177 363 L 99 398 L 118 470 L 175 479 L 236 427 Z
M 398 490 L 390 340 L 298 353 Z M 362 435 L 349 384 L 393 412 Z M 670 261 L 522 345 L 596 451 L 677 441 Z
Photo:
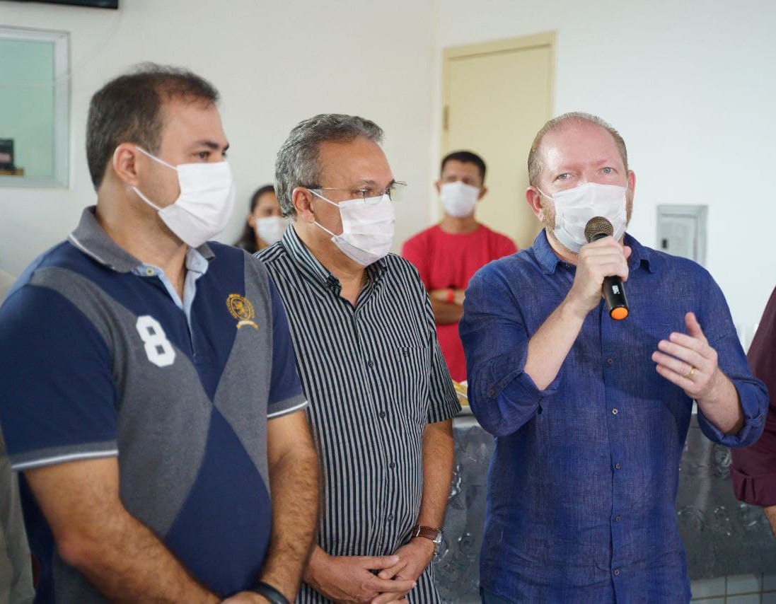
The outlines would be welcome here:
M 681 602 L 690 599 L 675 499 L 692 400 L 650 358 L 694 311 L 733 380 L 745 423 L 715 443 L 760 436 L 767 391 L 752 377 L 722 291 L 695 262 L 632 248 L 631 314 L 603 300 L 558 376 L 540 391 L 525 373 L 528 339 L 570 290 L 576 267 L 542 231 L 531 248 L 490 262 L 469 282 L 460 333 L 469 404 L 497 436 L 480 560 L 483 588 L 511 601 Z

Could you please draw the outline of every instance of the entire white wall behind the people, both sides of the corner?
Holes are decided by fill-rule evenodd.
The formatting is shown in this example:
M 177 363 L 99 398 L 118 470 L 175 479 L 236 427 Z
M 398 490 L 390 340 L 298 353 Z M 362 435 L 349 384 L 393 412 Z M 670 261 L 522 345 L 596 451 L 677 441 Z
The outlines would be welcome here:
M 93 203 L 88 99 L 144 60 L 183 64 L 223 94 L 244 206 L 303 118 L 359 113 L 386 130 L 411 184 L 397 246 L 435 217 L 442 48 L 556 30 L 556 113 L 598 113 L 636 170 L 631 232 L 655 245 L 658 203 L 707 203 L 707 266 L 737 322 L 776 283 L 776 3 L 771 0 L 122 0 L 120 11 L 0 0 L 0 24 L 71 32 L 71 189 L 0 189 L 0 267 L 19 272 Z M 527 150 L 515 149 L 518 161 Z M 241 228 L 234 217 L 223 234 Z

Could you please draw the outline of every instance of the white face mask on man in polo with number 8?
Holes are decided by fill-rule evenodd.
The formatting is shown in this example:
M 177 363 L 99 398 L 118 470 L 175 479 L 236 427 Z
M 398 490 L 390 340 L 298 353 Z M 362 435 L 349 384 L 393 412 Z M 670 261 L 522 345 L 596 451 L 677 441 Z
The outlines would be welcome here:
M 199 248 L 227 226 L 234 210 L 234 179 L 226 161 L 213 164 L 170 165 L 138 147 L 154 161 L 178 172 L 181 194 L 167 207 L 158 207 L 140 189 L 141 200 L 157 210 L 170 231 L 192 248 Z

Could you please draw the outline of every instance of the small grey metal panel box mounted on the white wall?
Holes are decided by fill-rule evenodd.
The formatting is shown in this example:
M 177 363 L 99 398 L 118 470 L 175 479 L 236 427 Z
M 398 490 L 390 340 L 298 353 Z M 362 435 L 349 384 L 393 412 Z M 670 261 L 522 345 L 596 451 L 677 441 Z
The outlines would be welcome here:
M 657 248 L 705 265 L 707 215 L 708 206 L 658 206 Z

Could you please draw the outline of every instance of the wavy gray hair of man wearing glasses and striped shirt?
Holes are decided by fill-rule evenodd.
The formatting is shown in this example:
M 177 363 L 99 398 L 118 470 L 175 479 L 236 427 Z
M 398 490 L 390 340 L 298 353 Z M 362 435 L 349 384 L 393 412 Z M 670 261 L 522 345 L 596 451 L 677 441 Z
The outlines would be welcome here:
M 321 113 L 293 127 L 275 160 L 275 193 L 283 216 L 296 216 L 291 197 L 293 189 L 320 184 L 320 144 L 349 142 L 358 137 L 381 144 L 383 129 L 370 120 L 342 113 Z

